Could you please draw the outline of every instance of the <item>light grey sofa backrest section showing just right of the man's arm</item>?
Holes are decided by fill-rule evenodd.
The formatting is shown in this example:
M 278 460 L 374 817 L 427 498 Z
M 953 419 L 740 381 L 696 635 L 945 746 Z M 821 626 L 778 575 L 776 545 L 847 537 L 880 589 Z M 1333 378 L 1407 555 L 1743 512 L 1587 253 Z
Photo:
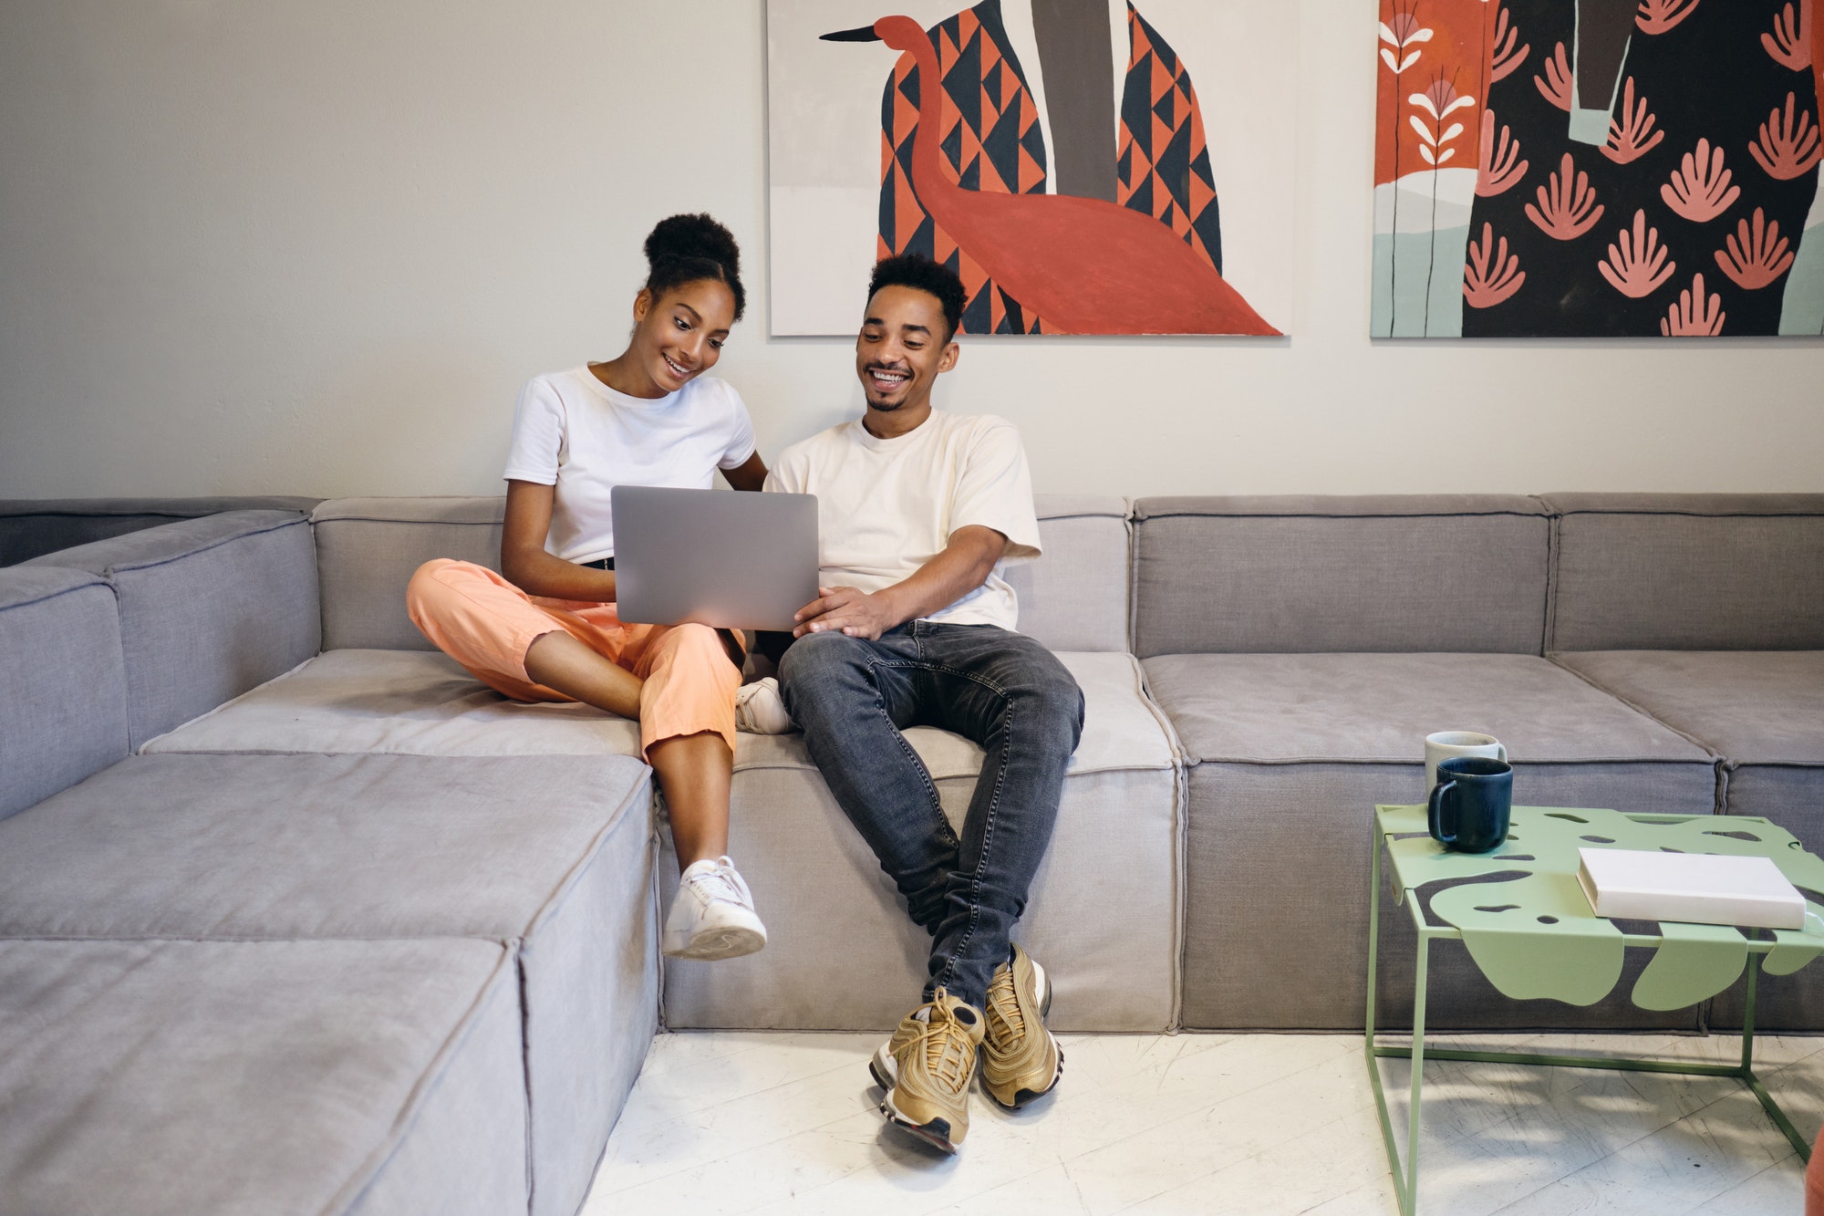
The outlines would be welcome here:
M 1127 500 L 1036 495 L 1043 557 L 1007 568 L 1020 632 L 1052 650 L 1127 650 Z

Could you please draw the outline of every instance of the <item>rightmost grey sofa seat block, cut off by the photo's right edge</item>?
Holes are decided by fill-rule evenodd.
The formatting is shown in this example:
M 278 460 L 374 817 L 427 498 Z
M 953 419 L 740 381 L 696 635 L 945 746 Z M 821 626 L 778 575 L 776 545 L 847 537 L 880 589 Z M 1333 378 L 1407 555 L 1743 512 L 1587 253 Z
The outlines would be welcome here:
M 1758 814 L 1824 853 L 1824 650 L 1587 650 L 1558 663 L 1726 758 L 1724 811 Z M 1711 1021 L 1736 1026 L 1740 995 Z M 1757 1022 L 1824 1028 L 1824 970 L 1760 980 Z

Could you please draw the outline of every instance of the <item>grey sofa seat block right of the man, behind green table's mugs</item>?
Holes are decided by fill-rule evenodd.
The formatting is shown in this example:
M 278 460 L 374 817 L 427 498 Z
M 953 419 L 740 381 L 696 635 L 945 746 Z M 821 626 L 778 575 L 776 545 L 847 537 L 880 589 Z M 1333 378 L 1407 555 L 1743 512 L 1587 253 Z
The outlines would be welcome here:
M 1361 1024 L 1372 814 L 1425 796 L 1430 730 L 1505 741 L 1523 805 L 1707 814 L 1716 803 L 1705 749 L 1541 657 L 1167 655 L 1145 672 L 1195 761 L 1187 1026 Z M 1404 909 L 1383 915 L 1390 1021 L 1410 1017 L 1412 959 Z M 1625 993 L 1591 1010 L 1505 1001 L 1456 948 L 1435 959 L 1430 991 L 1441 1028 L 1698 1026 L 1696 1010 L 1647 1015 Z

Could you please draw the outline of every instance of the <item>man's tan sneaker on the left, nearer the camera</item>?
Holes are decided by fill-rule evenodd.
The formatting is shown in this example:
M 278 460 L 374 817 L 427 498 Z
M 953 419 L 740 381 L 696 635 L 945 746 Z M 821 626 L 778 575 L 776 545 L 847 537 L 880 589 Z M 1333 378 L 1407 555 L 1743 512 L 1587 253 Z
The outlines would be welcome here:
M 956 1154 L 969 1136 L 969 1083 L 981 1033 L 981 1013 L 941 988 L 907 1013 L 868 1064 L 886 1090 L 886 1121 Z

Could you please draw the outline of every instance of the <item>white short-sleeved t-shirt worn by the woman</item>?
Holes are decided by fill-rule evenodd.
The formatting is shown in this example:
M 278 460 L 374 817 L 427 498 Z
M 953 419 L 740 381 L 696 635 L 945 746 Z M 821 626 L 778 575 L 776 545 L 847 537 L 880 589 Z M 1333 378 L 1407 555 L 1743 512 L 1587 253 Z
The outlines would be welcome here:
M 607 506 L 615 486 L 710 489 L 717 469 L 737 469 L 751 455 L 748 407 L 715 376 L 644 398 L 575 367 L 520 389 L 502 477 L 554 486 L 545 548 L 567 562 L 593 562 L 615 555 Z

